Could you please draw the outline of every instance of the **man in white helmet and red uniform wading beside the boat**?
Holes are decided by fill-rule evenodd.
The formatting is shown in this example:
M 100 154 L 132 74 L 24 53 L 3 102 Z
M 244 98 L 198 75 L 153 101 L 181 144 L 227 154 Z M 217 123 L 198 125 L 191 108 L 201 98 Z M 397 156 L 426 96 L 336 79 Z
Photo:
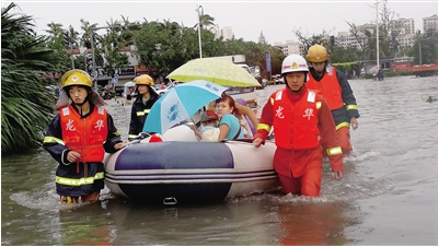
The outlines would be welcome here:
M 306 86 L 309 72 L 306 59 L 289 55 L 281 66 L 286 87 L 274 92 L 263 107 L 253 144 L 260 148 L 275 130 L 274 168 L 285 193 L 320 196 L 322 148 L 325 149 L 335 179 L 343 177 L 343 153 L 325 99 Z M 319 137 L 323 138 L 320 144 Z M 321 148 L 322 145 L 322 148 Z

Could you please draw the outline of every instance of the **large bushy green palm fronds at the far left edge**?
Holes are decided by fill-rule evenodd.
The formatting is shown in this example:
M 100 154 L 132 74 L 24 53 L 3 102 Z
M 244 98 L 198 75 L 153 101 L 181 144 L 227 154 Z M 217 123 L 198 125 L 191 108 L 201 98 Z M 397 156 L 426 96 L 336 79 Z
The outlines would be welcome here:
M 44 73 L 59 62 L 46 38 L 36 36 L 31 16 L 1 10 L 1 153 L 41 146 L 55 97 Z

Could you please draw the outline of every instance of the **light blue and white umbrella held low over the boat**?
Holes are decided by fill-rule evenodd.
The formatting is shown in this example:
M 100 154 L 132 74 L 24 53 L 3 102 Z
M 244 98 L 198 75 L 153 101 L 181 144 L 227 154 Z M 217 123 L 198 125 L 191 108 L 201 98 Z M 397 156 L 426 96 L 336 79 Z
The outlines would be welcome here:
M 175 85 L 153 104 L 143 132 L 163 133 L 219 98 L 226 90 L 224 86 L 203 80 Z

